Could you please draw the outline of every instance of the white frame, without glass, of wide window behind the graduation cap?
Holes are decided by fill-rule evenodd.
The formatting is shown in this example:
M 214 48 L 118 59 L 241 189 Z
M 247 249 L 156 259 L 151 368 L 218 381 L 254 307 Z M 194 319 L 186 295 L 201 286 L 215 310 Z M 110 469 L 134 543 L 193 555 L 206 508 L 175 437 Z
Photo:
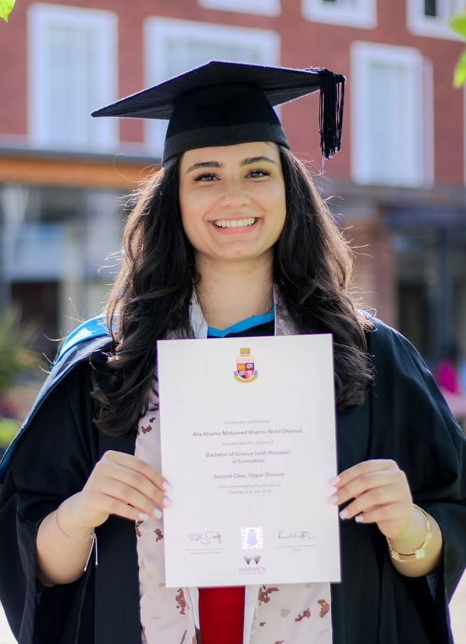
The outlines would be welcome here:
M 238 48 L 243 45 L 245 51 L 251 48 L 251 43 L 254 43 L 260 53 L 259 64 L 267 66 L 280 64 L 280 36 L 275 31 L 151 16 L 144 22 L 144 71 L 147 87 L 166 80 L 164 75 L 164 70 L 167 67 L 166 46 L 171 38 L 181 38 L 186 41 L 196 39 L 201 43 L 213 43 L 214 45 L 218 43 L 219 47 L 224 46 L 225 43 L 231 43 L 235 47 L 239 46 Z M 247 62 L 247 58 L 244 58 L 243 61 L 238 59 L 238 62 Z M 187 71 L 190 67 L 192 65 L 190 66 L 189 61 L 186 61 L 186 69 L 180 73 Z M 149 154 L 161 157 L 166 126 L 167 121 L 145 120 L 144 140 Z

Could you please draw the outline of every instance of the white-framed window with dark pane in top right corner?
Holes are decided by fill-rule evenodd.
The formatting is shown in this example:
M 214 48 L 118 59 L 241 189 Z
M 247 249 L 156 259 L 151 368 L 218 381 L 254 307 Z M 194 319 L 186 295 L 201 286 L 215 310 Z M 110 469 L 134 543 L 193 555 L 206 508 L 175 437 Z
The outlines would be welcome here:
M 448 26 L 451 16 L 462 11 L 465 0 L 408 0 L 408 29 L 417 36 L 460 40 Z

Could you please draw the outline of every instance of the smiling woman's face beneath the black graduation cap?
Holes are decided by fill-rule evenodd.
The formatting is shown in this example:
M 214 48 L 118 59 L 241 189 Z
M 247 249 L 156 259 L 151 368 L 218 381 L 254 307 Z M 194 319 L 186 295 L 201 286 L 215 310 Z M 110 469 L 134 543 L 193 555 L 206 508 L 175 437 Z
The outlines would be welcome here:
M 271 259 L 286 213 L 280 153 L 268 142 L 184 152 L 179 200 L 196 260 Z

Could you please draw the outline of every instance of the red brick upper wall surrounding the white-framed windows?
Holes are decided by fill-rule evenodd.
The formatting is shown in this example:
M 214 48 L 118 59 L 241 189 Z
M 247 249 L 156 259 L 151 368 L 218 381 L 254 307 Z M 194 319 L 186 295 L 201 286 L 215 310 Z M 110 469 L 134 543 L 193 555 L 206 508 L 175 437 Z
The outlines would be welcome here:
M 26 81 L 26 0 L 16 3 L 9 23 L 0 21 L 0 56 L 2 64 L 0 100 L 0 145 L 3 135 L 27 133 Z M 119 19 L 119 71 L 121 96 L 144 86 L 142 25 L 147 16 L 206 21 L 237 26 L 268 28 L 279 33 L 282 64 L 285 66 L 327 66 L 344 73 L 351 83 L 349 48 L 352 41 L 367 40 L 398 43 L 418 48 L 433 62 L 435 88 L 435 177 L 438 182 L 463 183 L 462 90 L 452 88 L 452 70 L 463 45 L 440 38 L 413 36 L 406 29 L 406 2 L 378 2 L 378 26 L 375 29 L 312 24 L 302 18 L 300 0 L 282 0 L 280 16 L 255 16 L 228 11 L 203 9 L 196 1 L 138 0 L 63 0 L 60 4 L 88 6 L 115 11 Z M 332 160 L 332 174 L 349 176 L 349 100 L 346 100 L 343 145 Z M 301 100 L 283 109 L 283 121 L 292 148 L 301 157 L 319 163 L 317 97 Z M 121 138 L 142 140 L 142 124 L 137 120 L 121 123 Z M 402 151 L 401 151 L 402 152 Z

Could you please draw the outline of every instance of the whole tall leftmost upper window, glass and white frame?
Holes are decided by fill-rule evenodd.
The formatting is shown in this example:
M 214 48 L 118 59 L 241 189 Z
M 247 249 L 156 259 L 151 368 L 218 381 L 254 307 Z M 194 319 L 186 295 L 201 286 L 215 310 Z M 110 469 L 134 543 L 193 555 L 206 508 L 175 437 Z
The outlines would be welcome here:
M 90 116 L 117 97 L 117 19 L 110 11 L 33 4 L 28 14 L 29 135 L 38 147 L 105 151 L 118 124 Z

